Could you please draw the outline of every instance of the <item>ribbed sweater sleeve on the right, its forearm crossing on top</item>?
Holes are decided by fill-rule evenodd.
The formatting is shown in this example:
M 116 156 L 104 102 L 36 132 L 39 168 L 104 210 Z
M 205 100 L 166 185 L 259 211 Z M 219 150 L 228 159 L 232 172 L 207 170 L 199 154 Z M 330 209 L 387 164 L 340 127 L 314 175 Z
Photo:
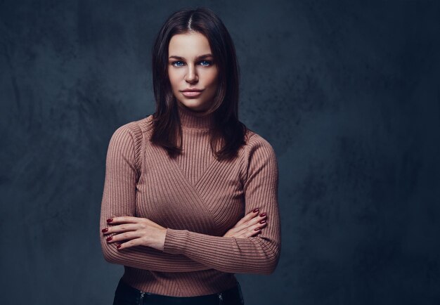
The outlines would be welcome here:
M 266 212 L 267 225 L 250 238 L 225 238 L 188 230 L 167 228 L 164 252 L 184 254 L 216 270 L 227 273 L 270 274 L 280 257 L 280 217 L 278 212 L 278 163 L 264 138 L 250 138 L 247 155 L 245 193 L 246 214 L 259 208 Z

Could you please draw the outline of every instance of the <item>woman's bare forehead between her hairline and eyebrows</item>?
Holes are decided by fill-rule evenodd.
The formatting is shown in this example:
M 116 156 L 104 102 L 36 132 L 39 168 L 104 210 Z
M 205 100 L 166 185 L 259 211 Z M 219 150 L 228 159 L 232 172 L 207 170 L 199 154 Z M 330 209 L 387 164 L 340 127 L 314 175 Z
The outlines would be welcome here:
M 168 56 L 195 58 L 202 54 L 211 53 L 208 39 L 198 32 L 176 34 L 169 41 Z

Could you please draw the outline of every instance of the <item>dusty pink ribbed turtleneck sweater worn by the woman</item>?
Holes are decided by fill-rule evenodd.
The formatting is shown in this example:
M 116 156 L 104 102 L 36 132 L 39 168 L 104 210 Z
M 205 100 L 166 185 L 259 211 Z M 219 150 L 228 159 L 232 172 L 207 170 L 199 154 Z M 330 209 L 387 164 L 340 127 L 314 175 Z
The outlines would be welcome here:
M 144 292 L 193 297 L 236 285 L 233 273 L 272 273 L 280 257 L 278 164 L 272 146 L 248 131 L 232 162 L 209 146 L 212 115 L 179 108 L 183 154 L 175 160 L 150 143 L 152 116 L 119 127 L 108 146 L 100 232 L 110 216 L 148 218 L 167 228 L 163 252 L 116 249 L 101 233 L 106 261 L 124 265 L 122 279 Z M 224 238 L 256 207 L 267 225 L 252 238 Z

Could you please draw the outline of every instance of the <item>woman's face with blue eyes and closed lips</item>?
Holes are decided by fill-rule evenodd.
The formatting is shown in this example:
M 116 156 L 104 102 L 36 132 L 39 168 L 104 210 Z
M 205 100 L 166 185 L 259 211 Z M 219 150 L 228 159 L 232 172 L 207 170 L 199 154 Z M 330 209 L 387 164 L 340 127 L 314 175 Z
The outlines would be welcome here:
M 196 112 L 207 110 L 218 85 L 218 70 L 208 39 L 198 32 L 176 34 L 169 41 L 168 52 L 169 82 L 179 106 Z

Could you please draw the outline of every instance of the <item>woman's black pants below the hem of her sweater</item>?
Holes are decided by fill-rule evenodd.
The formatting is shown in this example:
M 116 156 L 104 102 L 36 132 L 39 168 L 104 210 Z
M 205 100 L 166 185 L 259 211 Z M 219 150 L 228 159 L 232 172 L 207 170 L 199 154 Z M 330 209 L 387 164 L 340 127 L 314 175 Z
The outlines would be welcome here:
M 127 285 L 122 278 L 119 280 L 115 291 L 113 305 L 243 305 L 243 295 L 240 283 L 223 292 L 201 295 L 198 297 L 168 297 L 150 292 L 141 292 Z

